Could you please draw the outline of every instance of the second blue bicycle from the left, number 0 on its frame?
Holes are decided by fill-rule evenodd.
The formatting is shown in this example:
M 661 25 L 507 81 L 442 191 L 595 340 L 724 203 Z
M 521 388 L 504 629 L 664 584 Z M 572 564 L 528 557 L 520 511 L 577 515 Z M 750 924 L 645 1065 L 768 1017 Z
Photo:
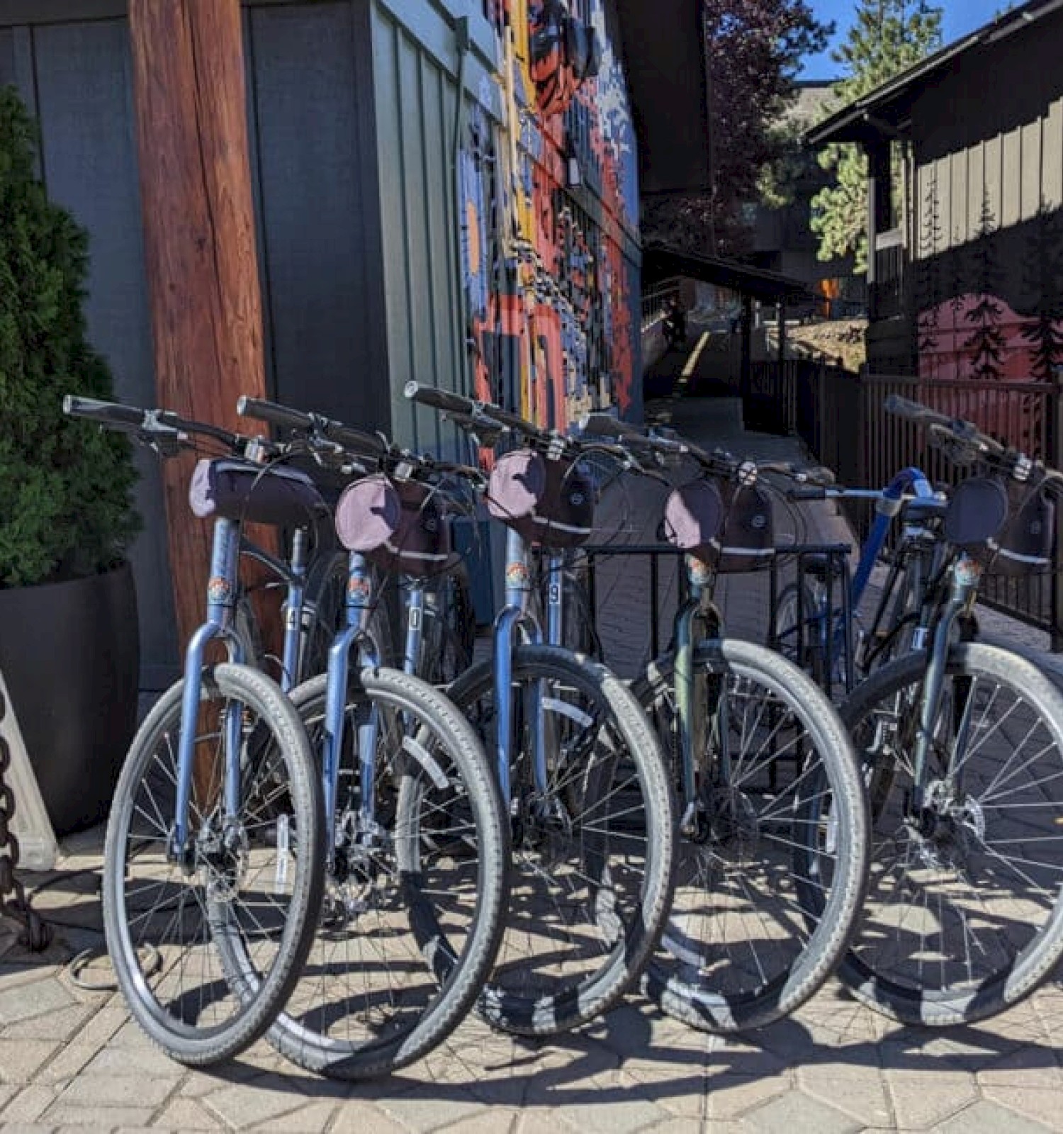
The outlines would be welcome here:
M 237 408 L 290 431 L 349 481 L 334 517 L 348 553 L 343 626 L 326 671 L 290 693 L 321 753 L 325 894 L 267 1039 L 303 1067 L 365 1078 L 408 1065 L 461 1022 L 495 957 L 508 896 L 508 830 L 479 738 L 440 691 L 381 666 L 366 633 L 376 574 L 406 572 L 418 584 L 407 670 L 422 655 L 416 600 L 453 566 L 433 503 L 452 468 L 320 414 L 252 398 Z

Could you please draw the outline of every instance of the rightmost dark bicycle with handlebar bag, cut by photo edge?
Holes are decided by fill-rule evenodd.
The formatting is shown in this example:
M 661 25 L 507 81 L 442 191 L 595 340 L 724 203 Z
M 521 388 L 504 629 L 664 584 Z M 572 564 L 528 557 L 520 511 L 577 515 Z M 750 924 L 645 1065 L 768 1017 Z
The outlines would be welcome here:
M 886 408 L 988 475 L 953 489 L 935 525 L 926 650 L 877 669 L 841 706 L 873 849 L 839 975 L 895 1019 L 943 1026 L 1015 1004 L 1063 956 L 1063 697 L 1027 659 L 970 641 L 987 567 L 1051 561 L 1048 493 L 1063 474 L 969 422 L 895 396 Z

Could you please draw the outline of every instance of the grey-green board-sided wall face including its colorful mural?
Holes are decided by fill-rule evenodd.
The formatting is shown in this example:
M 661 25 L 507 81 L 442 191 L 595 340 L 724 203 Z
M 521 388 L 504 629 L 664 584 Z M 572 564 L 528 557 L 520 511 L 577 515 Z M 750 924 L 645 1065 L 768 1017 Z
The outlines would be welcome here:
M 571 9 L 595 28 L 602 67 L 565 109 L 546 112 L 532 76 L 535 0 L 374 5 L 393 426 L 403 440 L 458 443 L 437 434 L 434 414 L 402 405 L 410 378 L 558 428 L 597 406 L 640 414 L 630 110 L 611 9 Z

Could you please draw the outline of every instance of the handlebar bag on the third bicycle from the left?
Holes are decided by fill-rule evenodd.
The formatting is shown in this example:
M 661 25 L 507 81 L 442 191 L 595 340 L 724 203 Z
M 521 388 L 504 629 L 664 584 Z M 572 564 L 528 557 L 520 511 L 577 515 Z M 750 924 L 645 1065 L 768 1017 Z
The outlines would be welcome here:
M 571 459 L 513 449 L 491 471 L 487 510 L 528 543 L 578 547 L 594 527 L 594 488 Z

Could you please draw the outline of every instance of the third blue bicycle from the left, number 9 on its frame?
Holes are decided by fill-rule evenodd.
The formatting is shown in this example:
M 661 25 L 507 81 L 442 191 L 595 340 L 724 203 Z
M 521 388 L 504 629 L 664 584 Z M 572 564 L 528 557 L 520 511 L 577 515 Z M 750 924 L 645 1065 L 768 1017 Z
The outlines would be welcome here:
M 671 897 L 674 816 L 660 742 L 605 667 L 565 650 L 560 587 L 545 621 L 532 545 L 548 577 L 590 532 L 594 496 L 581 446 L 490 403 L 410 382 L 407 397 L 444 413 L 499 456 L 485 492 L 507 525 L 505 598 L 490 661 L 449 694 L 494 751 L 510 816 L 512 899 L 479 1001 L 488 1023 L 551 1035 L 609 1009 L 637 979 Z

